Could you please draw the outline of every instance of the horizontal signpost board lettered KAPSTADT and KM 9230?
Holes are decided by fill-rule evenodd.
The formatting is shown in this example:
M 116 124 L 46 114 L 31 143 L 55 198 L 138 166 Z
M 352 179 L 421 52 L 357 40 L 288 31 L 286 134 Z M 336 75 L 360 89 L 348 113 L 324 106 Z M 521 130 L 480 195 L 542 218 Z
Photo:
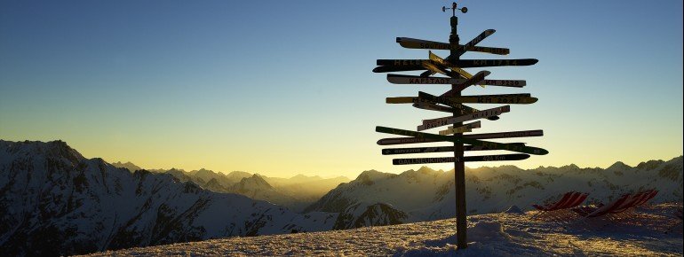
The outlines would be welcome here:
M 414 75 L 387 74 L 387 82 L 393 84 L 462 84 L 465 79 L 445 77 L 421 77 Z M 526 85 L 522 80 L 483 80 L 478 85 L 522 88 Z

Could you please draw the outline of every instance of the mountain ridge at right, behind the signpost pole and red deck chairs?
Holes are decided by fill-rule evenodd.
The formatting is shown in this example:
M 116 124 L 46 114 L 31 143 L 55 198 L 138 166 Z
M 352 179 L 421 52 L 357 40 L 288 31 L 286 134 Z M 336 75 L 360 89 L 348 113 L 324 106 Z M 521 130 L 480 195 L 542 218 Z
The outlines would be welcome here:
M 505 211 L 510 206 L 529 210 L 531 204 L 558 199 L 568 191 L 590 193 L 586 202 L 606 203 L 627 192 L 656 189 L 652 202 L 682 201 L 682 157 L 649 160 L 636 167 L 616 162 L 608 168 L 514 166 L 465 169 L 469 214 Z M 307 212 L 343 213 L 351 206 L 382 203 L 407 214 L 406 222 L 433 221 L 456 213 L 454 171 L 429 167 L 389 174 L 364 171 L 306 208 Z

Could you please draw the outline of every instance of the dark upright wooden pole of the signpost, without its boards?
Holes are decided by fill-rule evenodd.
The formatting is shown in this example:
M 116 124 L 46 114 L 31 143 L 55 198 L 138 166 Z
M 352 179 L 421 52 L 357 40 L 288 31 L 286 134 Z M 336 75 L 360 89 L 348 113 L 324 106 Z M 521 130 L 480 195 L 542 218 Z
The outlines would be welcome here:
M 449 35 L 449 43 L 451 45 L 458 45 L 458 18 L 456 15 L 451 16 L 450 23 L 451 34 Z M 458 50 L 456 49 L 451 49 L 449 53 L 455 61 L 460 58 Z M 457 90 L 457 88 L 457 84 L 451 84 L 451 89 L 455 90 L 454 97 L 461 96 L 461 91 Z M 460 115 L 461 113 L 458 113 L 457 110 L 455 110 L 454 117 Z M 463 122 L 454 123 L 454 127 L 460 127 L 461 125 L 463 125 Z M 456 133 L 454 136 L 463 136 L 463 133 Z M 454 143 L 454 159 L 463 160 L 463 143 Z M 467 221 L 465 219 L 465 162 L 463 161 L 454 161 L 454 190 L 456 191 L 456 244 L 459 249 L 465 249 L 468 245 L 465 238 Z

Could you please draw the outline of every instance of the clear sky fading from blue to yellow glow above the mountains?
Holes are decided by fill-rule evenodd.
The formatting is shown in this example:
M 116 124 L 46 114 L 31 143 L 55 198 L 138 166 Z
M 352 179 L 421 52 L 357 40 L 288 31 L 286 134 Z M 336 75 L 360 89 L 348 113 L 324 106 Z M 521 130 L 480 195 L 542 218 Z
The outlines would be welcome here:
M 458 14 L 461 43 L 493 28 L 479 45 L 511 49 L 463 58 L 539 59 L 468 69 L 527 86 L 464 94 L 539 98 L 473 132 L 544 129 L 497 142 L 550 152 L 467 166 L 633 166 L 682 154 L 682 1 L 458 3 L 468 8 Z M 449 4 L 3 0 L 0 139 L 60 139 L 88 158 L 146 168 L 349 177 L 415 169 L 380 154 L 378 139 L 394 136 L 375 126 L 415 129 L 444 113 L 385 97 L 449 86 L 393 85 L 371 70 L 378 58 L 427 58 L 395 37 L 448 41 Z M 427 156 L 449 153 L 401 158 Z

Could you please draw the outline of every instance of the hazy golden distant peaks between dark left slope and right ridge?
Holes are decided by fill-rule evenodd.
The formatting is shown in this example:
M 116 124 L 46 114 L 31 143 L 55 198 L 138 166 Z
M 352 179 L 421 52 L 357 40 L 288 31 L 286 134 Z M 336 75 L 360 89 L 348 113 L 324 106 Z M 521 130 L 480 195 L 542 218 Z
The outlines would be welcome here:
M 142 169 L 131 162 L 114 162 L 115 167 L 125 167 L 134 172 Z M 306 206 L 337 187 L 351 181 L 346 176 L 322 178 L 321 176 L 295 175 L 290 178 L 269 177 L 243 171 L 227 175 L 208 169 L 185 171 L 182 169 L 148 169 L 155 173 L 171 174 L 181 182 L 191 181 L 203 189 L 223 193 L 236 193 L 251 199 L 265 200 L 294 212 L 302 212 Z

